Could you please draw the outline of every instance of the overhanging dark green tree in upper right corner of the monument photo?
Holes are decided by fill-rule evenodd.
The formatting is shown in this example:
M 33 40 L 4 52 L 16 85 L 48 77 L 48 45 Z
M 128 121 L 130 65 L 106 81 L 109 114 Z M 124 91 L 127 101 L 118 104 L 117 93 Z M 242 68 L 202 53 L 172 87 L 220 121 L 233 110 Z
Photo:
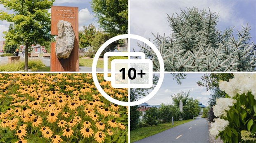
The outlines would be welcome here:
M 100 27 L 111 36 L 128 34 L 128 0 L 92 0 Z

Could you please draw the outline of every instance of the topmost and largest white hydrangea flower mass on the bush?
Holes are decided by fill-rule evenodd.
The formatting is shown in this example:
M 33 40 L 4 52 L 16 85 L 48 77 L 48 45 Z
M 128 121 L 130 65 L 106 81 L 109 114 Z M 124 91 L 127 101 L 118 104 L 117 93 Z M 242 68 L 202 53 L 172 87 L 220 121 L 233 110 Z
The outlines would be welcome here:
M 235 97 L 237 93 L 251 92 L 256 99 L 256 74 L 234 74 L 234 78 L 227 81 L 220 81 L 219 88 L 225 91 L 230 97 Z

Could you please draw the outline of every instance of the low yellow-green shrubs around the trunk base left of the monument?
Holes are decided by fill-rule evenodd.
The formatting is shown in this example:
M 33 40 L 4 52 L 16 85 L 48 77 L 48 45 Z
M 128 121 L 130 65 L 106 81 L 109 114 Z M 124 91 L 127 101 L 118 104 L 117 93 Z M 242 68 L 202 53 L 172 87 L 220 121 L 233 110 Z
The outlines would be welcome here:
M 43 67 L 44 64 L 41 60 L 29 60 L 28 69 L 32 71 L 37 71 L 40 67 Z M 7 63 L 0 66 L 0 71 L 21 71 L 24 70 L 25 62 L 24 61 L 15 61 L 12 63 Z

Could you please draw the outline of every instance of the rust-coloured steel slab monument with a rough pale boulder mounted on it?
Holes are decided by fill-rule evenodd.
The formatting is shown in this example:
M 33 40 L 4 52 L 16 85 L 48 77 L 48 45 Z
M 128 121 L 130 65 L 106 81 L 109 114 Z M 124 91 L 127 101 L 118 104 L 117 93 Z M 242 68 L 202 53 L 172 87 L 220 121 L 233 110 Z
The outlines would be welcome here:
M 78 7 L 52 6 L 50 71 L 79 71 Z

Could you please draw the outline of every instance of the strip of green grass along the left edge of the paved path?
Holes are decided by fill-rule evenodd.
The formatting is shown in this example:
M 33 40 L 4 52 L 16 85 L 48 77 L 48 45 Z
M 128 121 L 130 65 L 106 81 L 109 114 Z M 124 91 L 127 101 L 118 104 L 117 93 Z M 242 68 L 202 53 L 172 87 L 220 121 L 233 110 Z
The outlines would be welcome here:
M 160 133 L 161 131 L 165 131 L 167 129 L 170 129 L 172 127 L 184 124 L 186 122 L 190 122 L 192 120 L 193 119 L 183 120 L 183 121 L 174 121 L 173 122 L 174 125 L 172 125 L 172 123 L 164 123 L 164 124 L 159 124 L 157 126 L 137 128 L 135 130 L 130 131 L 130 142 L 133 143 L 133 142 L 138 141 L 142 138 L 152 136 L 154 134 Z

